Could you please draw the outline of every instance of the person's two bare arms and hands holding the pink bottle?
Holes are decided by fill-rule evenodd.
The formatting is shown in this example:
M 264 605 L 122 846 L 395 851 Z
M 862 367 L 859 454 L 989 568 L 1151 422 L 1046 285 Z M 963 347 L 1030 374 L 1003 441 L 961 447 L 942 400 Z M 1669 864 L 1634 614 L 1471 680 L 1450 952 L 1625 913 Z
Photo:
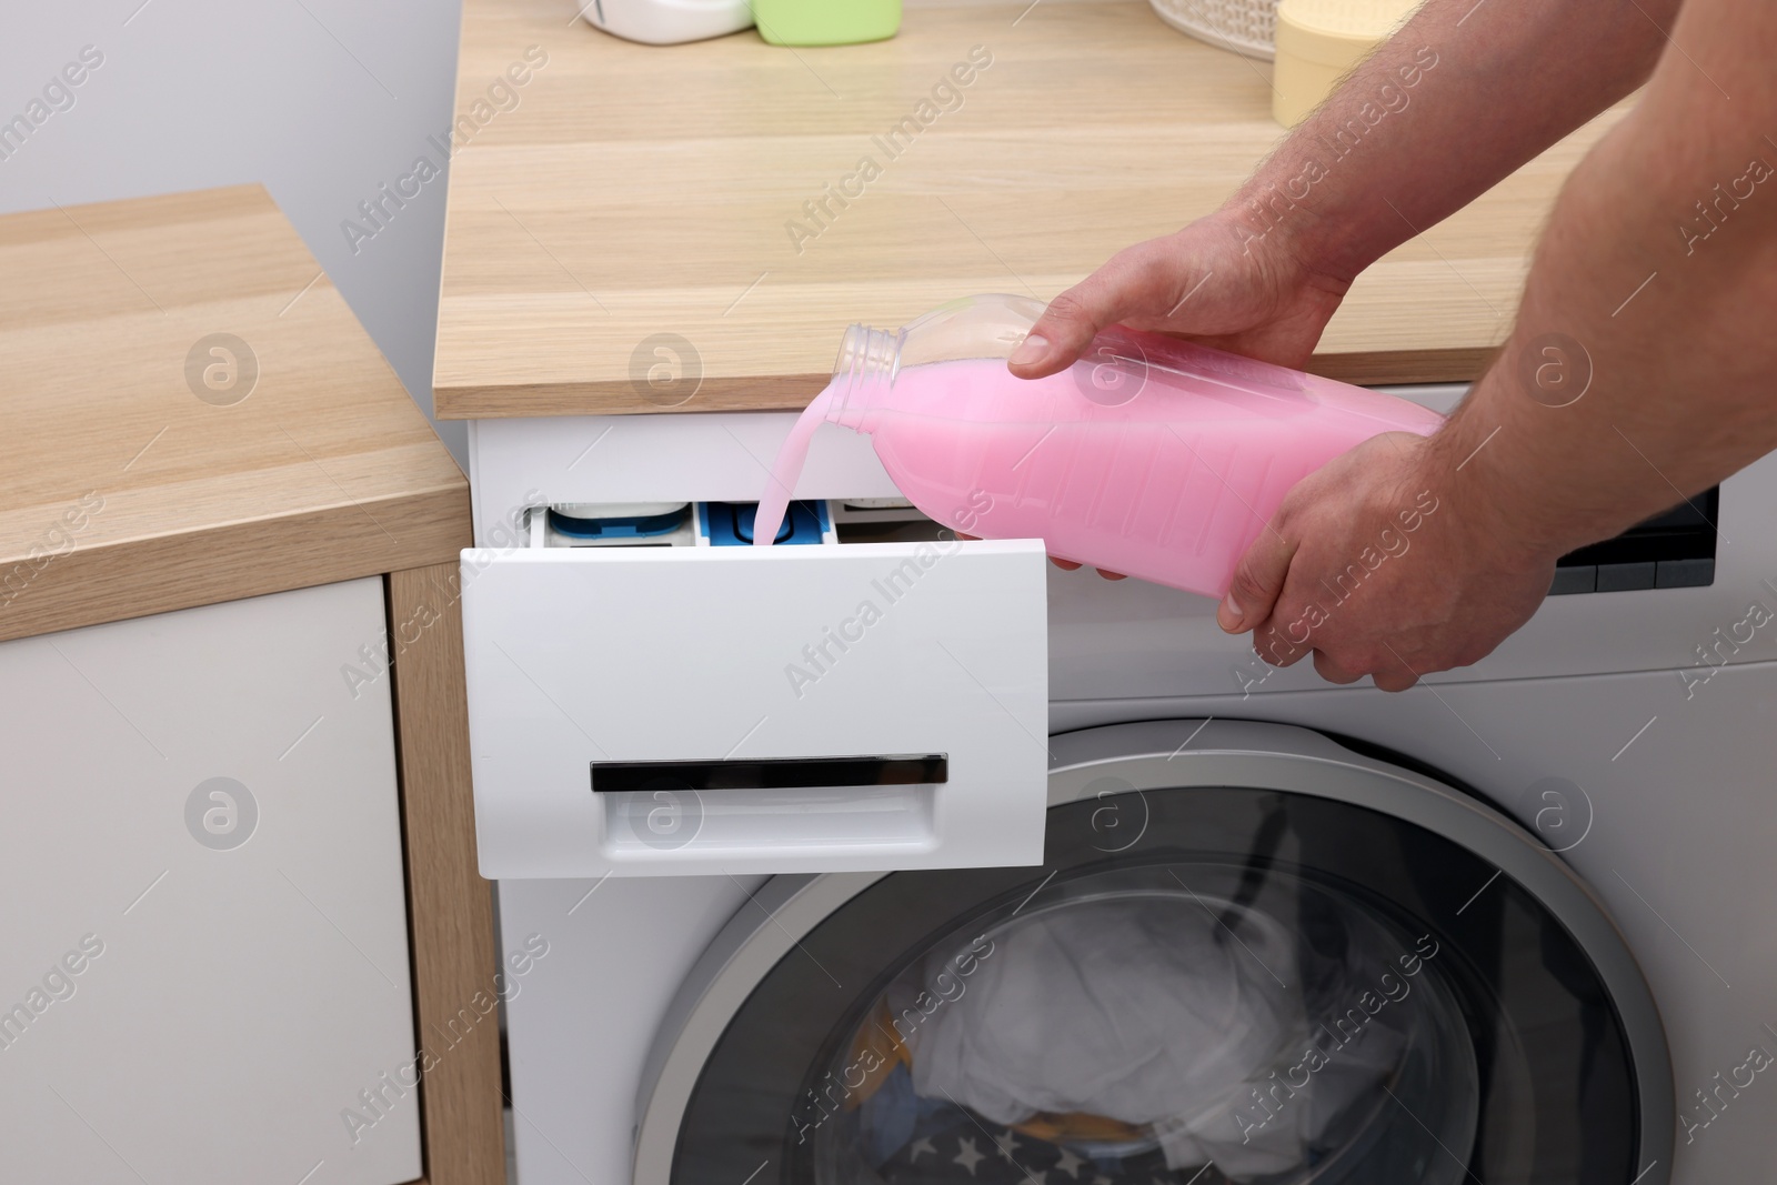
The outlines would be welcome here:
M 1363 268 L 1646 82 L 1569 178 L 1450 423 L 1303 480 L 1221 608 L 1263 657 L 1313 652 L 1338 682 L 1473 663 L 1530 618 L 1557 556 L 1777 449 L 1773 37 L 1777 5 L 1741 0 L 1427 0 L 1223 211 L 1059 297 L 1011 371 L 1056 373 L 1112 322 L 1299 368 Z M 1327 146 L 1377 99 L 1390 123 L 1336 167 Z M 1541 389 L 1550 343 L 1585 398 Z

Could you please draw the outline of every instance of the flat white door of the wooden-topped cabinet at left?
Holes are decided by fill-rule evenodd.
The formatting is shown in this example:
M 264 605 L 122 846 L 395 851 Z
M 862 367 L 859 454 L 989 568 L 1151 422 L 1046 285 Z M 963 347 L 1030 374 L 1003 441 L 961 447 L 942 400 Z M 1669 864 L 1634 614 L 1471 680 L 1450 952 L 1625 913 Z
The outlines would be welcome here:
M 0 1180 L 419 1176 L 382 652 L 379 579 L 0 645 Z

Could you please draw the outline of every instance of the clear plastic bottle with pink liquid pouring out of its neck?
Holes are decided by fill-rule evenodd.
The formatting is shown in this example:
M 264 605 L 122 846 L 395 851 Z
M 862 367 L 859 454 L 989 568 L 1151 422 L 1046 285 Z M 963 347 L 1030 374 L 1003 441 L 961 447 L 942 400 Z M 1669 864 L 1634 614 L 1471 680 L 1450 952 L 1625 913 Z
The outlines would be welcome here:
M 920 512 L 965 535 L 1210 597 L 1308 473 L 1381 432 L 1430 435 L 1416 403 L 1114 325 L 1048 378 L 1006 359 L 1043 302 L 952 300 L 899 330 L 853 325 L 759 501 L 769 545 L 821 423 L 865 432 Z

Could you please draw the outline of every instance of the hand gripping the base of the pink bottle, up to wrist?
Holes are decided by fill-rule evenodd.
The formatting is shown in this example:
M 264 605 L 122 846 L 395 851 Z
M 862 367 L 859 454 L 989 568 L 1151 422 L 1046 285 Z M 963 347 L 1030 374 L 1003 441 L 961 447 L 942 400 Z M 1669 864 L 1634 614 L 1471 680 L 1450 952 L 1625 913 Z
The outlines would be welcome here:
M 1526 560 L 1434 441 L 1390 432 L 1303 478 L 1253 542 L 1215 611 L 1260 657 L 1306 654 L 1329 682 L 1404 691 L 1468 666 L 1530 620 L 1555 561 Z

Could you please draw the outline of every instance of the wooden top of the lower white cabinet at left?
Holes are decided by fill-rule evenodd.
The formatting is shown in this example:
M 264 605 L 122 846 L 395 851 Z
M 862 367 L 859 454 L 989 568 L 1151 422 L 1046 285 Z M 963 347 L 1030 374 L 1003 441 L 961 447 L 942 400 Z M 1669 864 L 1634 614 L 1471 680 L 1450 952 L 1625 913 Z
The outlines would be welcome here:
M 457 462 L 258 185 L 0 217 L 0 638 L 469 545 Z

